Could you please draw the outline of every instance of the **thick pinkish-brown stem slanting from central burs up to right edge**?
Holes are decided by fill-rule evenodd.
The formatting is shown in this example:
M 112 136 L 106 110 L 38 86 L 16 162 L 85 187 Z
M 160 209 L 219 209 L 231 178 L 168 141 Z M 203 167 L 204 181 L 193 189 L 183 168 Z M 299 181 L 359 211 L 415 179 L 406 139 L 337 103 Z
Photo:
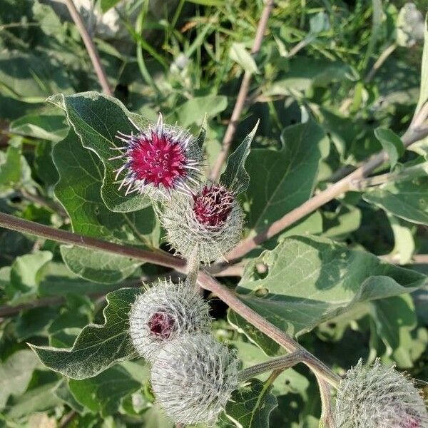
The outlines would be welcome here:
M 428 128 L 409 128 L 409 130 L 404 133 L 404 136 L 402 136 L 402 141 L 404 146 L 409 146 L 415 141 L 419 141 L 426 136 L 428 136 Z M 334 183 L 329 188 L 310 198 L 299 207 L 291 210 L 290 213 L 285 214 L 282 218 L 280 218 L 280 220 L 270 224 L 267 228 L 258 233 L 258 235 L 241 241 L 241 243 L 238 244 L 227 255 L 227 259 L 230 262 L 233 262 L 236 259 L 243 257 L 251 250 L 254 250 L 259 244 L 269 240 L 273 236 L 277 235 L 277 233 L 280 233 L 282 230 L 289 228 L 290 225 L 312 213 L 317 208 L 320 208 L 325 203 L 330 202 L 330 200 L 337 198 L 343 193 L 346 193 L 348 190 L 350 190 L 350 188 L 352 188 L 352 185 L 355 185 L 359 180 L 367 177 L 367 175 L 372 173 L 374 169 L 382 165 L 387 160 L 388 156 L 384 151 L 381 151 L 380 153 L 377 153 L 377 155 L 372 156 L 372 158 L 363 163 L 360 168 L 357 168 L 357 170 L 350 173 L 345 178 L 342 178 L 342 180 L 337 181 L 337 183 Z

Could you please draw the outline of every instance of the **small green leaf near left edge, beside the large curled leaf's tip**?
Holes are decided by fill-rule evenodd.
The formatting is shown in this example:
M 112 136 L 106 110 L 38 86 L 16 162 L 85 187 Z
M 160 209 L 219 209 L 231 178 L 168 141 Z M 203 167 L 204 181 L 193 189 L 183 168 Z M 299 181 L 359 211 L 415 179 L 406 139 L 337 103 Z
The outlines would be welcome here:
M 69 126 L 62 115 L 29 114 L 13 121 L 11 133 L 41 140 L 61 141 L 68 134 Z

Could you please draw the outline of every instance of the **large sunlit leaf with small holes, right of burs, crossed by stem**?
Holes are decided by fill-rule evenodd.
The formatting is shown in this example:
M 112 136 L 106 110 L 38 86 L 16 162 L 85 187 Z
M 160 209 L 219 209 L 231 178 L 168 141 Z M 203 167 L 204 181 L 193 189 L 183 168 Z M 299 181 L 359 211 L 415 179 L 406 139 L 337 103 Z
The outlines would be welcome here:
M 267 269 L 261 277 L 260 264 Z M 236 291 L 272 324 L 298 336 L 357 302 L 412 292 L 426 283 L 425 275 L 389 265 L 365 251 L 325 238 L 295 236 L 251 260 Z M 271 340 L 235 312 L 229 319 L 265 351 L 277 352 Z

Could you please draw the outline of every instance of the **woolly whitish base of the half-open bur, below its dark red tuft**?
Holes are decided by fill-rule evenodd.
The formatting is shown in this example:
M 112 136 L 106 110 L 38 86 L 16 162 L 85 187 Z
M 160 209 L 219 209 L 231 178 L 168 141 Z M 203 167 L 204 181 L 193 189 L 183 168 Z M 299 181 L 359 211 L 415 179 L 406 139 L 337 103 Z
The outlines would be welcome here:
M 193 212 L 193 198 L 177 195 L 165 203 L 161 223 L 166 239 L 177 253 L 185 258 L 196 257 L 205 264 L 224 259 L 239 242 L 243 230 L 244 213 L 237 200 L 222 225 L 199 223 Z

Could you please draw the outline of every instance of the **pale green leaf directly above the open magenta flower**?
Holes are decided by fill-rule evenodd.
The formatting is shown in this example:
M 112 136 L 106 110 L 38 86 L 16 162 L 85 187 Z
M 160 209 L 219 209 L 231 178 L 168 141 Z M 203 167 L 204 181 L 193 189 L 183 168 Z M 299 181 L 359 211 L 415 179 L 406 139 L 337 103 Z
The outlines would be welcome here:
M 206 117 L 212 118 L 228 106 L 228 97 L 224 95 L 208 95 L 190 98 L 178 106 L 175 116 L 180 126 L 184 128 L 193 123 L 199 124 Z

